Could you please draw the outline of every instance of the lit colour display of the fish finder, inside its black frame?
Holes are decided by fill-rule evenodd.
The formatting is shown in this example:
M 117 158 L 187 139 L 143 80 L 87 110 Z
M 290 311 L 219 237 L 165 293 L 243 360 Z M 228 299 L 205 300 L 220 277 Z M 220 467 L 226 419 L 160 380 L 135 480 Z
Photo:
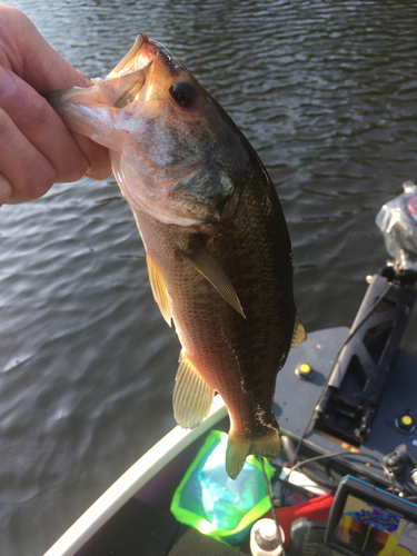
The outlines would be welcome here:
M 345 554 L 348 547 L 364 556 L 417 556 L 417 524 L 349 494 L 335 545 Z

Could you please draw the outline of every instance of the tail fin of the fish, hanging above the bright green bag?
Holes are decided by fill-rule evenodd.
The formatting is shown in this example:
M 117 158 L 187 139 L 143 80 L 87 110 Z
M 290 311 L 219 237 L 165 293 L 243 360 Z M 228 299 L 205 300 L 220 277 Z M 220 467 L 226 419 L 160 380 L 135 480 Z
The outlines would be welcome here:
M 236 479 L 250 454 L 277 459 L 280 451 L 281 437 L 278 427 L 266 427 L 265 433 L 257 437 L 240 436 L 230 429 L 226 450 L 226 471 L 231 479 Z

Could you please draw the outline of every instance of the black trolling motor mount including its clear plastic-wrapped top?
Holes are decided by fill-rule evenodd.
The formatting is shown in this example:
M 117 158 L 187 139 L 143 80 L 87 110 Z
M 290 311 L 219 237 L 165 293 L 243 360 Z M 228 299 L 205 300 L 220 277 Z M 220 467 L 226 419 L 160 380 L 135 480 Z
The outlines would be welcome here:
M 417 299 L 417 186 L 403 188 L 376 219 L 394 260 L 370 279 L 316 408 L 315 430 L 356 448 L 371 430 Z M 413 416 L 400 416 L 397 426 L 413 430 Z

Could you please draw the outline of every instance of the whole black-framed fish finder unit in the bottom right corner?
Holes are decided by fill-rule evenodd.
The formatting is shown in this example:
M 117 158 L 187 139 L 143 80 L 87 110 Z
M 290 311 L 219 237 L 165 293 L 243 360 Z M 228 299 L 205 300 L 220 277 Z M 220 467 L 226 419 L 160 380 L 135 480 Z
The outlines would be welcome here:
M 417 556 L 417 505 L 347 476 L 336 492 L 325 544 L 347 556 Z

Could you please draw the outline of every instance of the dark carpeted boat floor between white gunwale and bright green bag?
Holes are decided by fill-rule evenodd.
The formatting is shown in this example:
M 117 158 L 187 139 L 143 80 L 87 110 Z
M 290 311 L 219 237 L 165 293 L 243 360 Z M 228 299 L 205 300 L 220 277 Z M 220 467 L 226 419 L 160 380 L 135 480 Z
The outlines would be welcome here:
M 177 522 L 172 515 L 131 498 L 76 556 L 239 556 L 212 537 Z

